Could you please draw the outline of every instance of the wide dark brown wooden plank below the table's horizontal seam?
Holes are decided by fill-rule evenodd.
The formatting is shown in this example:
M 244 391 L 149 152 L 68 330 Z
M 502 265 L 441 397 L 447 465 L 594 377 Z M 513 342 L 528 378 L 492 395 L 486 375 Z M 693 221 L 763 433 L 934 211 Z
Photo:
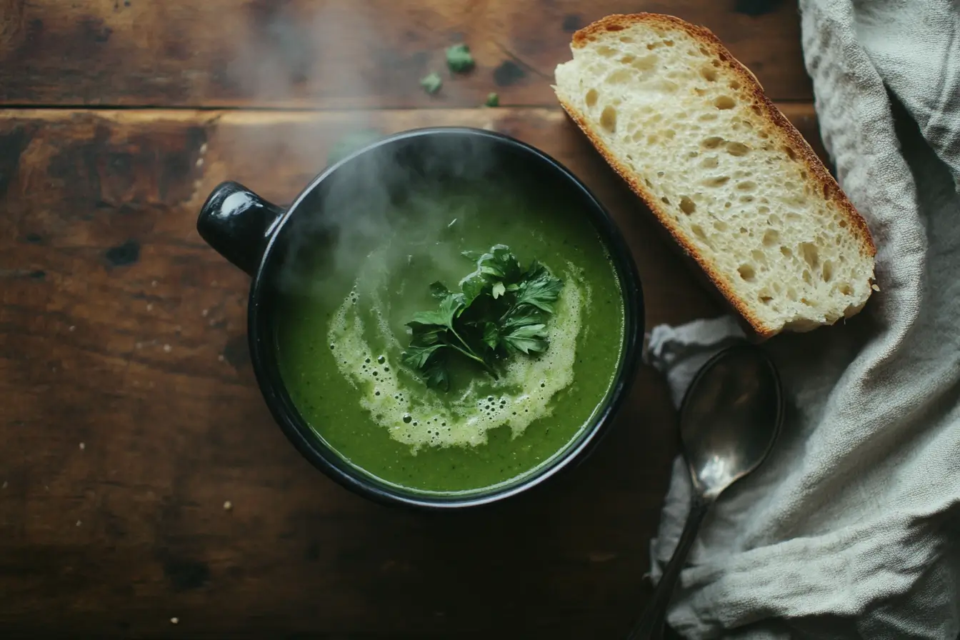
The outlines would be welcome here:
M 811 107 L 784 110 L 815 139 Z M 276 428 L 248 279 L 194 228 L 222 179 L 289 202 L 345 130 L 444 124 L 511 133 L 585 179 L 634 250 L 648 326 L 718 313 L 559 108 L 0 111 L 5 637 L 623 635 L 676 450 L 658 375 L 641 370 L 593 458 L 529 495 L 375 506 Z

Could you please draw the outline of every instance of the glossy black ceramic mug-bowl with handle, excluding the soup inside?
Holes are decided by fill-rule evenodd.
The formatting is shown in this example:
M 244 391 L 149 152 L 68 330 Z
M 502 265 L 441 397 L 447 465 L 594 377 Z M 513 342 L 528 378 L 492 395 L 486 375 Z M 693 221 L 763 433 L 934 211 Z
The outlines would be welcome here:
M 438 154 L 442 149 L 443 153 Z M 390 193 L 407 187 L 411 176 L 431 180 L 458 179 L 464 158 L 482 156 L 490 168 L 559 194 L 575 203 L 595 226 L 612 256 L 620 279 L 626 330 L 623 356 L 596 421 L 564 453 L 534 473 L 513 483 L 466 494 L 436 495 L 405 490 L 377 480 L 346 462 L 328 447 L 306 423 L 284 387 L 276 362 L 275 315 L 279 272 L 290 248 L 309 242 L 308 218 L 331 213 L 331 194 L 363 198 L 375 186 Z M 391 174 L 384 166 L 403 167 Z M 473 170 L 473 169 L 471 169 Z M 506 173 L 504 173 L 506 172 Z M 375 177 L 375 178 L 374 178 Z M 365 181 L 376 179 L 376 185 Z M 324 211 L 324 205 L 327 211 Z M 304 215 L 301 212 L 308 212 Z M 300 453 L 329 477 L 350 490 L 380 502 L 427 509 L 483 505 L 540 485 L 564 467 L 582 461 L 609 429 L 612 417 L 630 390 L 643 336 L 643 296 L 636 265 L 619 229 L 603 205 L 563 165 L 514 138 L 486 130 L 438 128 L 411 130 L 384 138 L 349 155 L 315 178 L 290 208 L 284 210 L 253 194 L 236 182 L 224 182 L 210 194 L 200 212 L 197 228 L 204 240 L 252 278 L 248 336 L 253 370 L 277 423 Z

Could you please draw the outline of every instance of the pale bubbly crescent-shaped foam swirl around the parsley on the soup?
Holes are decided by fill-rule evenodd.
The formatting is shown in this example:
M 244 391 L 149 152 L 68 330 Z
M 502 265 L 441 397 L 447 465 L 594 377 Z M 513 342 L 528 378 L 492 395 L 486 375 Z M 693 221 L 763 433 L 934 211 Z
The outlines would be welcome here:
M 589 285 L 567 264 L 566 285 L 547 322 L 549 346 L 539 356 L 511 358 L 497 380 L 478 377 L 461 391 L 428 390 L 398 366 L 401 349 L 376 288 L 361 275 L 330 321 L 327 340 L 340 373 L 360 391 L 360 405 L 391 438 L 422 446 L 476 446 L 487 432 L 509 426 L 516 438 L 551 415 L 550 401 L 573 384 L 576 343 Z M 377 348 L 376 344 L 385 346 Z

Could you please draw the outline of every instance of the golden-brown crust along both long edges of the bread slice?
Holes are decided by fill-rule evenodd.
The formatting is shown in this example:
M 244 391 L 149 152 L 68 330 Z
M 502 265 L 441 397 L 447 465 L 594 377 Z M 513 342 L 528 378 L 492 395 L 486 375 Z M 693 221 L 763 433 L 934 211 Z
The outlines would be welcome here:
M 827 167 L 824 166 L 820 158 L 813 152 L 813 149 L 810 148 L 810 145 L 806 142 L 800 131 L 786 119 L 780 112 L 780 109 L 763 93 L 763 87 L 756 80 L 756 76 L 739 60 L 733 58 L 719 38 L 714 36 L 711 31 L 704 27 L 690 24 L 673 15 L 661 13 L 613 14 L 593 22 L 576 32 L 573 35 L 571 46 L 574 49 L 583 49 L 589 42 L 595 41 L 598 35 L 623 31 L 639 22 L 684 31 L 687 35 L 706 46 L 710 53 L 713 54 L 716 59 L 720 60 L 722 67 L 725 67 L 727 71 L 735 74 L 740 79 L 740 82 L 743 83 L 744 89 L 750 94 L 752 98 L 751 108 L 753 108 L 754 112 L 769 120 L 780 132 L 781 142 L 787 144 L 804 162 L 809 175 L 808 180 L 816 183 L 822 190 L 825 199 L 836 201 L 836 204 L 846 214 L 850 222 L 851 232 L 858 237 L 860 249 L 863 253 L 871 257 L 876 255 L 874 240 L 870 235 L 870 230 L 867 228 L 866 221 L 853 207 L 847 195 L 840 189 L 840 185 L 830 176 Z M 660 207 L 660 202 L 643 187 L 643 184 L 639 180 L 631 176 L 630 170 L 617 161 L 600 137 L 590 130 L 584 114 L 572 105 L 566 103 L 563 99 L 560 99 L 560 103 L 567 114 L 577 123 L 577 126 L 584 131 L 596 150 L 607 160 L 613 171 L 630 185 L 634 193 L 646 203 L 647 207 L 660 221 L 660 224 L 669 231 L 673 239 L 684 249 L 684 252 L 699 265 L 703 273 L 707 275 L 709 281 L 720 291 L 732 305 L 733 309 L 747 321 L 756 333 L 756 337 L 760 340 L 766 340 L 779 333 L 779 330 L 765 326 L 763 322 L 751 312 L 747 305 L 744 304 L 743 300 L 736 296 L 731 288 L 727 286 L 727 283 L 724 282 L 720 273 L 717 272 L 713 265 L 697 251 L 696 247 L 686 241 L 680 228 L 674 224 L 672 217 Z

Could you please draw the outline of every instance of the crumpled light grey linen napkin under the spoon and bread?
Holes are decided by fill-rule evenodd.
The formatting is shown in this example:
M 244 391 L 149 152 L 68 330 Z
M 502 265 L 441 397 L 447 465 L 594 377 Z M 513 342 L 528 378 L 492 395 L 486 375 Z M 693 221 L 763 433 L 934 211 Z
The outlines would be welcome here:
M 806 69 L 880 291 L 845 324 L 767 344 L 787 419 L 716 504 L 668 615 L 690 638 L 949 638 L 960 631 L 960 5 L 801 0 Z M 676 401 L 731 319 L 657 327 Z M 688 509 L 680 461 L 653 577 Z

